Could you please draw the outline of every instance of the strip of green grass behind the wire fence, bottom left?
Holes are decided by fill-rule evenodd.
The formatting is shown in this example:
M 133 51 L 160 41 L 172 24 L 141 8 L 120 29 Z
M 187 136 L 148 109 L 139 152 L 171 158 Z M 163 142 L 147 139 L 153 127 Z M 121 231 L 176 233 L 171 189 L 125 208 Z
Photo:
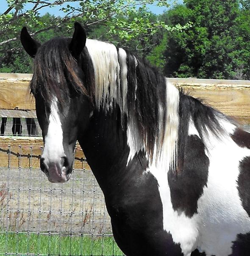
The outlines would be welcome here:
M 123 255 L 113 237 L 48 235 L 27 233 L 0 233 L 0 254 L 29 255 Z

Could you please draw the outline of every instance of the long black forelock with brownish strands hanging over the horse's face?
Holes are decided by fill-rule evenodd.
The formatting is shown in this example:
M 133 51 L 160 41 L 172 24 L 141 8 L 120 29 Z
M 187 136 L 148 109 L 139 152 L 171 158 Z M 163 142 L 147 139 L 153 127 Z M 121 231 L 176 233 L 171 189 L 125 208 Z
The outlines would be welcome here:
M 87 94 L 68 45 L 69 39 L 56 37 L 37 51 L 30 88 L 34 95 L 41 94 L 44 102 L 50 102 L 54 95 L 63 104 L 72 91 Z

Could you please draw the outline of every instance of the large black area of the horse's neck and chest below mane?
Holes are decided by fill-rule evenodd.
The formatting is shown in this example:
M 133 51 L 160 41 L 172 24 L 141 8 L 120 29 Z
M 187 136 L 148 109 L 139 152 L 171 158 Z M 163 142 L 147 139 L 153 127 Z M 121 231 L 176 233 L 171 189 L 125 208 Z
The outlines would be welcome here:
M 128 139 L 116 109 L 94 112 L 90 128 L 78 138 L 103 190 L 114 238 L 127 256 L 183 256 L 163 229 L 158 183 L 145 172 L 145 152 L 139 151 L 127 166 Z

